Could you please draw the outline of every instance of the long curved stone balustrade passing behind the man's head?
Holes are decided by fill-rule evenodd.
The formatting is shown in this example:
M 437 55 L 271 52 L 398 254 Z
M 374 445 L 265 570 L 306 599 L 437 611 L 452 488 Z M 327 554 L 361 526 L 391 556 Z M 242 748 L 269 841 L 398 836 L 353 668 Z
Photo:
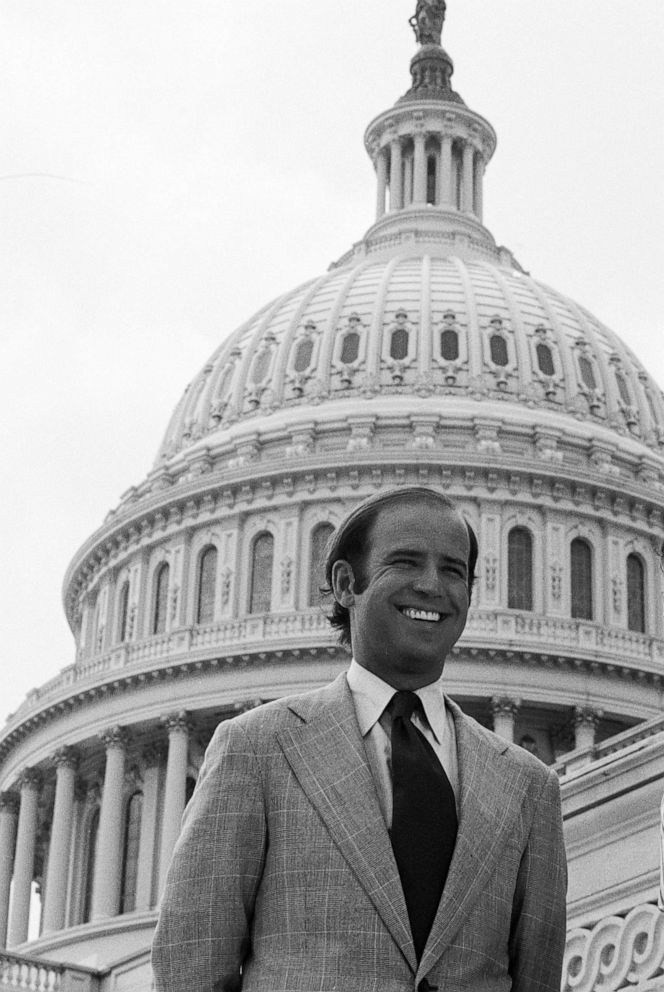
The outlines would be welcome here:
M 336 635 L 321 610 L 245 616 L 205 626 L 179 627 L 165 634 L 120 644 L 81 657 L 45 685 L 28 693 L 8 724 L 20 723 L 44 706 L 117 674 L 140 672 L 169 662 L 204 660 L 263 651 L 332 646 Z M 515 610 L 471 610 L 460 642 L 464 647 L 562 655 L 579 662 L 601 661 L 664 675 L 664 641 L 647 634 L 584 620 L 545 617 Z

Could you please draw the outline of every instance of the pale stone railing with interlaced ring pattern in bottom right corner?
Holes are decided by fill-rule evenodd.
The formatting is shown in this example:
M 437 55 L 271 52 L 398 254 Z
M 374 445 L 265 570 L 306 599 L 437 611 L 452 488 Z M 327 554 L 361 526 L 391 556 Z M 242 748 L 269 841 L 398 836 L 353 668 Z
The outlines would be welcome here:
M 570 930 L 562 992 L 664 990 L 664 913 L 649 903 Z

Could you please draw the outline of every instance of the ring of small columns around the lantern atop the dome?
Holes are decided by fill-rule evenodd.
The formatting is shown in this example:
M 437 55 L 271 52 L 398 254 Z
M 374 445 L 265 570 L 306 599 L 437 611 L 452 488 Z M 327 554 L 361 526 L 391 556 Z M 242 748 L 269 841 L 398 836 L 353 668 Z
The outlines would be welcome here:
M 378 150 L 375 166 L 377 220 L 387 210 L 388 192 L 390 212 L 429 203 L 482 220 L 486 163 L 473 142 L 424 132 L 394 137 Z

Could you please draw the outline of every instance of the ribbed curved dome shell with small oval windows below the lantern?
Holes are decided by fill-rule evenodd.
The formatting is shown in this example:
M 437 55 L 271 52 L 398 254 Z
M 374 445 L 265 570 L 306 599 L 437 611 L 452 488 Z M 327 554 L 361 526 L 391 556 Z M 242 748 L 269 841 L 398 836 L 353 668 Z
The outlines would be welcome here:
M 388 247 L 369 236 L 223 342 L 176 407 L 157 465 L 177 471 L 181 453 L 223 444 L 239 423 L 322 422 L 340 404 L 370 411 L 377 400 L 435 410 L 440 429 L 500 402 L 510 421 L 532 423 L 536 410 L 542 427 L 660 451 L 661 392 L 616 334 L 506 251 L 459 254 L 418 237 L 417 221 L 405 212 Z

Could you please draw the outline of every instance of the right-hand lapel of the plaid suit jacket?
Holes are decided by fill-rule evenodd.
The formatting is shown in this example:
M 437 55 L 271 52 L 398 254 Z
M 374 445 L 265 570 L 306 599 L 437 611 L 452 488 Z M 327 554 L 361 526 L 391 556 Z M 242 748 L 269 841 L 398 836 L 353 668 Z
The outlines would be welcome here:
M 510 762 L 501 760 L 507 748 L 486 735 L 452 704 L 459 760 L 459 829 L 438 912 L 431 928 L 420 970 L 430 970 L 466 921 L 500 861 L 506 834 L 513 826 L 497 812 L 503 797 L 513 792 Z

